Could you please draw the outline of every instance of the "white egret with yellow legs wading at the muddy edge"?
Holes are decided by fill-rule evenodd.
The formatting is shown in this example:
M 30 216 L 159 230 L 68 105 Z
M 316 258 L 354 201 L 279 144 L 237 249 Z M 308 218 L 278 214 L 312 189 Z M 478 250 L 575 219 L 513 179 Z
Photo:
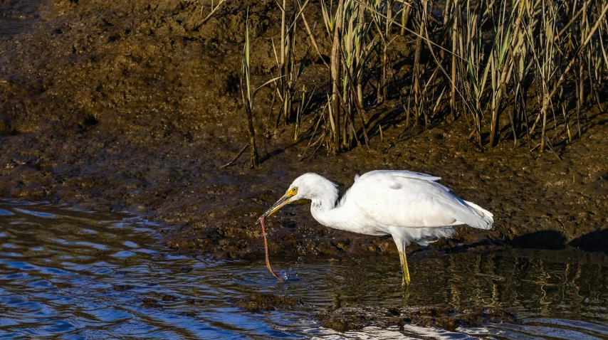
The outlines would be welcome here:
M 338 201 L 336 184 L 318 174 L 303 174 L 260 219 L 290 202 L 309 199 L 310 212 L 322 225 L 365 235 L 392 235 L 403 285 L 409 285 L 405 248 L 410 243 L 429 245 L 450 237 L 457 225 L 488 230 L 494 223 L 492 213 L 454 196 L 450 188 L 436 183 L 440 179 L 404 170 L 369 171 L 355 176 L 355 184 Z

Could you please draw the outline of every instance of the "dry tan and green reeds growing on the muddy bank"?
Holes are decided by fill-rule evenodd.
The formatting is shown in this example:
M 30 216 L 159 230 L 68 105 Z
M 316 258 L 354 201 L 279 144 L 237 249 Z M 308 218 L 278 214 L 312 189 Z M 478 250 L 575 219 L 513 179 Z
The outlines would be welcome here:
M 585 110 L 604 104 L 608 0 L 282 0 L 277 6 L 281 36 L 273 40 L 278 74 L 267 83 L 269 117 L 276 116 L 276 126 L 293 125 L 295 139 L 309 138 L 307 152 L 323 145 L 338 153 L 368 144 L 374 134 L 383 139 L 382 123 L 366 121 L 367 110 L 382 103 L 401 107 L 397 119 L 409 127 L 465 119 L 458 126 L 480 146 L 511 141 L 543 151 L 580 138 Z M 307 18 L 313 11 L 322 23 Z M 323 34 L 315 34 L 317 24 Z M 300 31 L 306 39 L 296 38 Z M 405 62 L 389 52 L 396 38 L 407 42 Z M 309 53 L 296 58 L 296 43 Z M 326 69 L 323 86 L 303 81 L 310 55 Z M 247 84 L 248 72 L 247 60 Z M 243 102 L 250 117 L 246 93 Z M 308 115 L 315 123 L 304 133 L 300 122 Z

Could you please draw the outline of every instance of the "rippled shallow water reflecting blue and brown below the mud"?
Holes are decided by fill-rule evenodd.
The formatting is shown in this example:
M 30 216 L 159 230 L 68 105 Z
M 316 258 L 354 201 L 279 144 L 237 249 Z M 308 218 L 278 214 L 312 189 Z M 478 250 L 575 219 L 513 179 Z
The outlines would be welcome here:
M 599 253 L 413 253 L 402 298 L 397 257 L 217 261 L 173 255 L 154 223 L 122 213 L 0 202 L 0 336 L 67 339 L 608 338 L 608 260 Z M 305 307 L 252 313 L 234 299 L 287 294 Z M 523 324 L 445 331 L 320 326 L 329 307 L 502 307 Z

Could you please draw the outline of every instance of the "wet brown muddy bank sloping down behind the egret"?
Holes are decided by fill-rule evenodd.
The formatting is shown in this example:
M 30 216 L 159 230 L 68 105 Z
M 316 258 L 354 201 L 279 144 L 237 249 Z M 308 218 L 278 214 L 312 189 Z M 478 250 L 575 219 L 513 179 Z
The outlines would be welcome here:
M 273 1 L 248 5 L 254 81 L 263 83 L 274 63 L 278 11 Z M 261 169 L 248 169 L 246 156 L 219 169 L 246 142 L 239 90 L 245 8 L 229 1 L 202 23 L 197 1 L 0 2 L 0 25 L 12 28 L 0 36 L 1 195 L 136 211 L 172 225 L 164 233 L 173 248 L 258 257 L 254 222 L 296 176 L 323 174 L 343 192 L 355 174 L 408 169 L 441 176 L 496 218 L 490 233 L 463 228 L 432 248 L 606 250 L 598 240 L 608 228 L 608 115 L 596 109 L 582 117 L 582 139 L 554 146 L 561 160 L 525 143 L 480 149 L 467 141 L 463 117 L 399 137 L 404 122 L 389 102 L 369 110 L 367 119 L 384 129 L 369 149 L 340 156 L 321 149 L 299 161 L 310 134 L 294 141 L 288 126 L 259 137 Z M 261 108 L 270 95 L 261 92 Z M 268 112 L 255 114 L 263 132 Z M 274 256 L 396 253 L 390 238 L 321 227 L 307 203 L 288 206 L 268 227 Z

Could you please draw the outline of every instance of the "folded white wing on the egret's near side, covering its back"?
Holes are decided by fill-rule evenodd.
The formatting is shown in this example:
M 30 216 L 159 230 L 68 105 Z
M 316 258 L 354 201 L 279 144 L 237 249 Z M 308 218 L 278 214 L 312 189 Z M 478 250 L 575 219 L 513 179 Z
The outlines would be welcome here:
M 489 229 L 493 220 L 454 196 L 445 186 L 393 171 L 361 176 L 344 198 L 379 226 L 405 228 L 468 224 Z M 483 210 L 483 209 L 482 209 Z M 489 214 L 489 213 L 488 213 Z

